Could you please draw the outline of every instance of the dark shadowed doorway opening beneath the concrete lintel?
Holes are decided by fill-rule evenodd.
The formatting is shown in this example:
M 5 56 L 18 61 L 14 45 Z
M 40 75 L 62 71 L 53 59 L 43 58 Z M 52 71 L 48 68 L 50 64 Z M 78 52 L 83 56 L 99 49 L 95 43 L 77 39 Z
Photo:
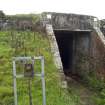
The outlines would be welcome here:
M 54 34 L 58 43 L 65 75 L 76 74 L 76 66 L 81 59 L 78 54 L 89 54 L 90 31 L 54 30 Z M 86 63 L 84 64 L 85 66 Z

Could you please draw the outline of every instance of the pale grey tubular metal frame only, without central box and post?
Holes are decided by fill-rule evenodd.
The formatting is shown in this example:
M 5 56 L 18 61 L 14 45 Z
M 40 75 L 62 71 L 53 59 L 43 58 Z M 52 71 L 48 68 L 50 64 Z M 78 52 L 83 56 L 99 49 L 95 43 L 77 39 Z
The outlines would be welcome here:
M 46 105 L 46 92 L 45 92 L 45 74 L 44 74 L 44 57 L 13 57 L 13 88 L 14 88 L 14 105 L 18 105 L 18 97 L 17 97 L 17 78 L 24 78 L 24 75 L 17 75 L 16 73 L 16 62 L 17 61 L 32 61 L 34 64 L 35 60 L 41 61 L 41 73 L 35 73 L 34 76 L 41 77 L 42 80 L 42 96 L 43 96 L 43 105 Z

